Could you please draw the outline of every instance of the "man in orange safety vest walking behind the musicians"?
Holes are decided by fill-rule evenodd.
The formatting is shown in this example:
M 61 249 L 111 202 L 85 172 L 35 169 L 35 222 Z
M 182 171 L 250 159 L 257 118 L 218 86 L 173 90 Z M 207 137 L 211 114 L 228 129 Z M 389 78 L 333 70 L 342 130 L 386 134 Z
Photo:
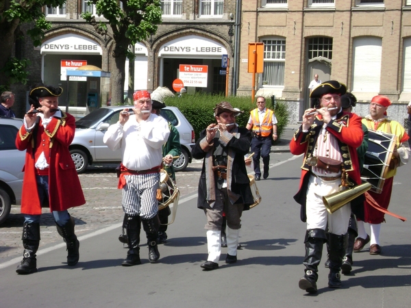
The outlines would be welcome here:
M 253 155 L 253 166 L 256 181 L 260 181 L 260 157 L 264 164 L 262 177 L 269 177 L 271 140 L 277 140 L 277 118 L 273 110 L 266 108 L 264 97 L 257 97 L 257 108 L 251 110 L 247 129 L 253 132 L 251 140 L 251 152 Z

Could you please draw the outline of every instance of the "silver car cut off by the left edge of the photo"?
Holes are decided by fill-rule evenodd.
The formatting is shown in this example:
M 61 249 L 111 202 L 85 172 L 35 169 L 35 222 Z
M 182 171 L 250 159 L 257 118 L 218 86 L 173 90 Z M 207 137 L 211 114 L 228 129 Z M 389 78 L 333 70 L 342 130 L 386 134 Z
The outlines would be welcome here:
M 21 203 L 25 151 L 15 145 L 21 125 L 21 119 L 0 117 L 0 224 L 8 218 L 12 204 Z

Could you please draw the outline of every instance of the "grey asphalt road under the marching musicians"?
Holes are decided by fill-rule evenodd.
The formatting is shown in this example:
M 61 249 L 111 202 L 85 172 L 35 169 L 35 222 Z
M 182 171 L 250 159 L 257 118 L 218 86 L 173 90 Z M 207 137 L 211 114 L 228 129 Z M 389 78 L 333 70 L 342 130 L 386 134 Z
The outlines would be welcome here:
M 190 178 L 190 183 L 183 185 L 182 175 L 177 182 L 194 192 L 180 198 L 177 218 L 169 227 L 169 242 L 159 247 L 158 264 L 149 264 L 147 246 L 142 245 L 142 264 L 122 267 L 127 252 L 117 240 L 122 214 L 121 209 L 120 213 L 115 209 L 119 200 L 116 205 L 111 201 L 115 199 L 112 194 L 118 192 L 103 193 L 101 189 L 98 195 L 103 196 L 96 197 L 90 211 L 99 212 L 97 207 L 104 207 L 112 211 L 110 216 L 119 214 L 118 221 L 100 222 L 101 227 L 77 231 L 81 255 L 79 264 L 71 268 L 65 264 L 63 243 L 40 248 L 36 274 L 20 276 L 14 272 L 20 257 L 1 259 L 0 306 L 409 307 L 410 222 L 391 216 L 386 216 L 387 223 L 382 226 L 382 255 L 369 255 L 368 245 L 354 254 L 353 271 L 342 277 L 341 289 L 327 287 L 324 252 L 319 268 L 319 293 L 308 295 L 299 290 L 306 226 L 299 220 L 299 205 L 292 196 L 299 185 L 301 157 L 271 153 L 271 164 L 269 179 L 258 182 L 262 203 L 242 216 L 242 249 L 236 264 L 225 264 L 223 248 L 219 270 L 201 270 L 207 247 L 203 229 L 206 220 L 196 207 L 198 178 Z M 410 165 L 399 169 L 390 205 L 390 210 L 406 218 L 411 218 L 410 171 Z M 91 182 L 93 187 L 112 185 L 106 177 L 93 178 Z M 80 212 L 72 214 L 76 221 L 82 221 Z M 90 222 L 93 223 L 97 224 Z M 76 230 L 88 224 L 79 223 Z M 51 226 L 42 226 L 42 231 L 48 227 Z M 54 227 L 52 231 L 55 233 Z

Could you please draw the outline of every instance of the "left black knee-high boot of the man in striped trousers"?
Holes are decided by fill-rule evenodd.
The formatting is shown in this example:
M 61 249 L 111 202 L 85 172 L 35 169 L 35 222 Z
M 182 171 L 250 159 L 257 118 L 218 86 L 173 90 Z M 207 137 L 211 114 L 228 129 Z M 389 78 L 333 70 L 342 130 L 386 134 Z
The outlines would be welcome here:
M 121 264 L 122 266 L 134 266 L 141 264 L 140 260 L 140 230 L 141 219 L 140 216 L 125 216 L 125 231 L 127 233 L 127 244 L 129 250 L 127 251 L 127 258 Z

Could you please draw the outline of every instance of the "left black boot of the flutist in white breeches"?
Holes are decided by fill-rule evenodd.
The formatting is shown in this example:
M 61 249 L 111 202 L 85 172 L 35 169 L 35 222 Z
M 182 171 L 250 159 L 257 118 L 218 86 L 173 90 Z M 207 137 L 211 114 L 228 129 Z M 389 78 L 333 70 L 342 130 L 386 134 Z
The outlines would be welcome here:
M 299 287 L 306 290 L 308 293 L 316 293 L 316 281 L 319 278 L 318 266 L 323 255 L 323 245 L 327 241 L 325 231 L 323 229 L 310 229 L 306 232 L 306 257 L 303 264 L 306 266 L 305 274 L 299 280 Z

